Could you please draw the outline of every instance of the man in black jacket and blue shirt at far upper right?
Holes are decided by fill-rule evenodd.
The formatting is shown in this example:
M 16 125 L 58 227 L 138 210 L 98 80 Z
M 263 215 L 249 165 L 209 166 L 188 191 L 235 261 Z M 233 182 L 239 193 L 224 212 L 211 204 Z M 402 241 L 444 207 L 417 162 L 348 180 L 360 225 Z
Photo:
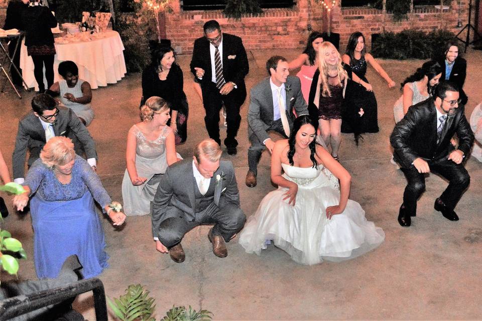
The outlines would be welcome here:
M 468 97 L 462 87 L 467 73 L 467 62 L 458 56 L 458 46 L 455 42 L 449 42 L 445 49 L 445 56 L 438 60 L 438 63 L 442 66 L 440 79 L 450 80 L 458 86 L 460 104 L 465 106 Z

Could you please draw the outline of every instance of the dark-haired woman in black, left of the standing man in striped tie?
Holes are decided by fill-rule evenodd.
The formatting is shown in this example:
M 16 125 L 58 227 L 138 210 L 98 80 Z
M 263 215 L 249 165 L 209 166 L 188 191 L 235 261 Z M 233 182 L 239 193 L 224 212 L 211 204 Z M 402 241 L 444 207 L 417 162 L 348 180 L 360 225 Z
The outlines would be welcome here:
M 183 90 L 184 80 L 182 70 L 175 62 L 174 49 L 160 46 L 152 51 L 152 63 L 142 73 L 142 100 L 152 96 L 166 100 L 171 108 L 171 119 L 168 125 L 176 135 L 176 145 L 182 144 L 187 138 L 187 116 L 189 107 Z

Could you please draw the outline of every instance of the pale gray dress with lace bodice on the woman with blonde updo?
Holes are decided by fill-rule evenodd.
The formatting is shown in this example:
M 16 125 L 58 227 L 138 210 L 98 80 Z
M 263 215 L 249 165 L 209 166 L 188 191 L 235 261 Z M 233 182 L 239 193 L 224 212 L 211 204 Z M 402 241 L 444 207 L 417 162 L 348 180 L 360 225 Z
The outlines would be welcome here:
M 136 125 L 129 135 L 136 136 L 136 170 L 139 177 L 147 178 L 143 185 L 132 185 L 126 169 L 122 180 L 122 199 L 126 215 L 146 215 L 150 213 L 150 203 L 154 200 L 157 186 L 167 169 L 166 137 L 172 134 L 169 126 L 164 126 L 156 140 L 149 140 Z

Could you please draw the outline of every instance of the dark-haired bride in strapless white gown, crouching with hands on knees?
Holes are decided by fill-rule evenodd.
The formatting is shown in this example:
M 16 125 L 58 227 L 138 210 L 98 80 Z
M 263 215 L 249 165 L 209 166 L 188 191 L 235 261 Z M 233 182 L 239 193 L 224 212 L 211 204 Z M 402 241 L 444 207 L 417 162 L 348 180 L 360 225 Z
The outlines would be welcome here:
M 276 142 L 271 180 L 279 188 L 265 196 L 240 233 L 246 252 L 260 255 L 273 240 L 296 262 L 311 265 L 351 259 L 384 241 L 383 230 L 348 199 L 350 175 L 315 136 L 310 117 L 300 116 L 290 138 Z

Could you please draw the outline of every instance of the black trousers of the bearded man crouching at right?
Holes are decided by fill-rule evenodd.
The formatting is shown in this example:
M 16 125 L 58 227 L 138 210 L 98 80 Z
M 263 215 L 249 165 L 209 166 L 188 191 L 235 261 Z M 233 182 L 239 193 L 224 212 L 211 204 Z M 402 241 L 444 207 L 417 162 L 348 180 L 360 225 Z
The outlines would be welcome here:
M 440 200 L 450 209 L 454 209 L 463 192 L 470 184 L 470 176 L 463 167 L 463 163 L 455 164 L 447 157 L 443 157 L 435 162 L 428 162 L 430 172 L 439 174 L 449 184 L 445 191 L 440 195 Z M 403 205 L 407 215 L 417 213 L 417 200 L 425 191 L 425 174 L 418 173 L 415 167 L 410 169 L 401 168 L 408 185 L 403 193 Z

